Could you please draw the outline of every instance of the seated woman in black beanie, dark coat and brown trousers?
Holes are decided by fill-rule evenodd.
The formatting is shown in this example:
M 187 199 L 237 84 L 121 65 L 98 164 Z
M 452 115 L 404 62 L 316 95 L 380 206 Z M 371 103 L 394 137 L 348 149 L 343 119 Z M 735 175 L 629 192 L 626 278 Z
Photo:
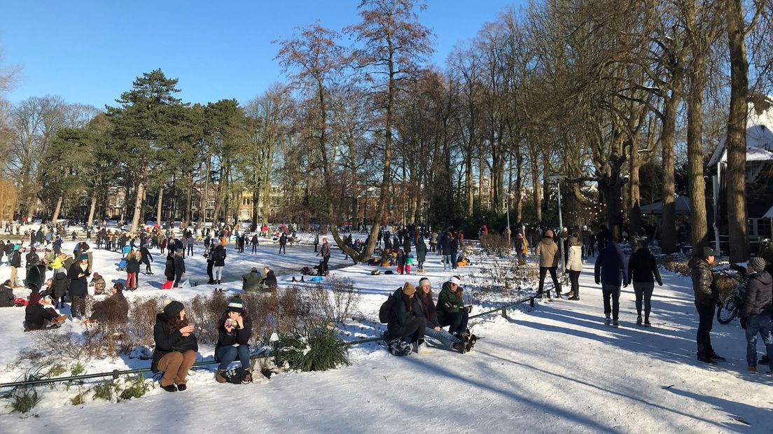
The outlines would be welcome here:
M 188 386 L 188 371 L 196 361 L 199 343 L 193 326 L 186 319 L 185 306 L 169 301 L 164 311 L 155 317 L 153 326 L 155 349 L 151 362 L 154 374 L 163 372 L 161 388 L 166 392 L 184 391 Z M 176 386 L 175 386 L 176 384 Z

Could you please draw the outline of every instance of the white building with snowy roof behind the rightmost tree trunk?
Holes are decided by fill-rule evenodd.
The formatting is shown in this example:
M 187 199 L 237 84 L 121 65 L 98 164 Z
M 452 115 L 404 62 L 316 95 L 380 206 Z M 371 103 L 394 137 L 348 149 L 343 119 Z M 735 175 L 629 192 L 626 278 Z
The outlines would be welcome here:
M 727 252 L 727 147 L 720 141 L 709 161 L 714 171 L 715 224 L 719 228 L 722 249 Z M 758 113 L 749 104 L 746 128 L 746 213 L 752 250 L 764 238 L 771 237 L 773 209 L 773 107 Z M 712 222 L 709 222 L 710 224 Z

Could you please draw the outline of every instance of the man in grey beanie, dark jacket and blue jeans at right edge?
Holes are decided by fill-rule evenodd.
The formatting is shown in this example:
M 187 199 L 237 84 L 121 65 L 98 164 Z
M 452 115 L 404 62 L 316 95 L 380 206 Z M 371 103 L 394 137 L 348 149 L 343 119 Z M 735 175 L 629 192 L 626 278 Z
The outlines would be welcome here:
M 744 293 L 744 303 L 738 316 L 746 330 L 746 362 L 749 371 L 757 371 L 757 335 L 761 335 L 768 354 L 768 367 L 773 372 L 773 278 L 765 271 L 765 260 L 751 258 L 749 281 Z

